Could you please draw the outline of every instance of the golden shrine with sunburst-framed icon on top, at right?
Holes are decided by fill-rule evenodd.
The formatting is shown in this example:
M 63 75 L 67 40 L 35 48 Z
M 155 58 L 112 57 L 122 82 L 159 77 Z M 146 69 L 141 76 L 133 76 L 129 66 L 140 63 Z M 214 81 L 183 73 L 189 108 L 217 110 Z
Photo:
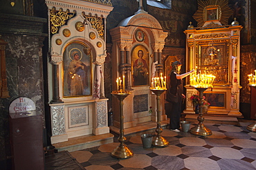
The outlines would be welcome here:
M 201 74 L 215 76 L 212 88 L 203 92 L 210 103 L 208 114 L 239 117 L 239 61 L 240 31 L 238 21 L 228 24 L 232 11 L 226 0 L 199 1 L 194 14 L 197 26 L 190 22 L 186 35 L 186 68 L 196 69 Z M 187 100 L 197 93 L 193 79 L 187 78 Z M 194 85 L 193 85 L 194 86 Z M 186 102 L 184 113 L 194 113 L 193 104 Z

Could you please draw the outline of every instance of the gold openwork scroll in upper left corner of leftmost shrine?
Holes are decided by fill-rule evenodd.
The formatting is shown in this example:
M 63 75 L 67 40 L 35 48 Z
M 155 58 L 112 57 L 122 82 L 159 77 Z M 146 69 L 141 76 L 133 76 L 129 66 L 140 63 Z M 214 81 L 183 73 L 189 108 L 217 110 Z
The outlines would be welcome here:
M 53 9 L 50 10 L 51 33 L 57 33 L 59 28 L 63 26 L 66 23 L 66 21 L 74 15 L 75 11 L 70 12 L 69 10 L 66 10 L 66 12 L 64 12 L 62 8 L 60 8 L 60 10 L 57 11 L 56 8 L 53 7 Z

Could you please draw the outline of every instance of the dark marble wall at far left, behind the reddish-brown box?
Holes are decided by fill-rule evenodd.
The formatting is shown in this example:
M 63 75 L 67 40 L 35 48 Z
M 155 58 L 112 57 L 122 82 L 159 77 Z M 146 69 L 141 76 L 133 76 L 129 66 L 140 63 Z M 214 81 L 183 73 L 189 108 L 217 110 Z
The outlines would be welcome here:
M 46 35 L 42 33 L 42 26 L 46 19 L 1 15 L 0 20 L 1 39 L 8 43 L 6 76 L 10 95 L 0 99 L 0 164 L 4 167 L 6 160 L 11 158 L 8 120 L 10 102 L 21 96 L 30 98 L 44 121 L 42 47 Z M 6 26 L 5 21 L 12 27 Z

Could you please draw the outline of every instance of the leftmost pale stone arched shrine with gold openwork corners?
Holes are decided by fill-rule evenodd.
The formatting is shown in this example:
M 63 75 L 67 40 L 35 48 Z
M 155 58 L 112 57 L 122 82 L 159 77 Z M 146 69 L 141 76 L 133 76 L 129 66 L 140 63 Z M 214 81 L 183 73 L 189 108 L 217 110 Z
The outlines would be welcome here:
M 59 23 L 60 26 L 56 24 L 57 31 L 51 32 L 49 36 L 48 106 L 51 113 L 51 143 L 65 142 L 69 138 L 83 135 L 109 133 L 108 99 L 102 96 L 104 74 L 100 79 L 95 77 L 100 73 L 107 56 L 104 31 L 106 17 L 113 7 L 87 1 L 72 1 L 71 3 L 64 0 L 51 0 L 46 4 L 49 10 L 48 29 L 51 31 L 53 28 L 52 17 L 64 22 L 62 25 Z M 71 11 L 73 14 L 67 17 L 69 13 L 72 13 Z M 82 94 L 68 93 L 67 86 L 69 85 L 65 82 L 67 81 L 65 76 L 67 77 L 70 70 L 64 69 L 67 69 L 70 66 L 69 63 L 73 61 L 74 50 L 80 55 L 78 58 L 81 61 L 79 61 L 89 65 L 87 80 L 90 90 Z M 71 53 L 73 53 L 72 57 Z M 84 58 L 81 56 L 86 57 L 87 60 L 82 61 Z M 84 65 L 79 64 L 80 70 L 84 69 Z

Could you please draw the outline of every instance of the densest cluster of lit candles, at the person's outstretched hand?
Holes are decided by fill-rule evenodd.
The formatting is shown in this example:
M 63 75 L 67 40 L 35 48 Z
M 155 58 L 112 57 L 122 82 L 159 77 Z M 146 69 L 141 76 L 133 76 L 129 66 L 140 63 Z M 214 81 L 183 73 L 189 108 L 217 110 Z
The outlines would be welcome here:
M 193 73 L 190 75 L 190 86 L 194 86 L 196 88 L 209 88 L 212 87 L 212 83 L 214 82 L 216 76 L 210 74 L 207 75 L 205 73 L 201 73 L 199 70 L 199 74 Z

